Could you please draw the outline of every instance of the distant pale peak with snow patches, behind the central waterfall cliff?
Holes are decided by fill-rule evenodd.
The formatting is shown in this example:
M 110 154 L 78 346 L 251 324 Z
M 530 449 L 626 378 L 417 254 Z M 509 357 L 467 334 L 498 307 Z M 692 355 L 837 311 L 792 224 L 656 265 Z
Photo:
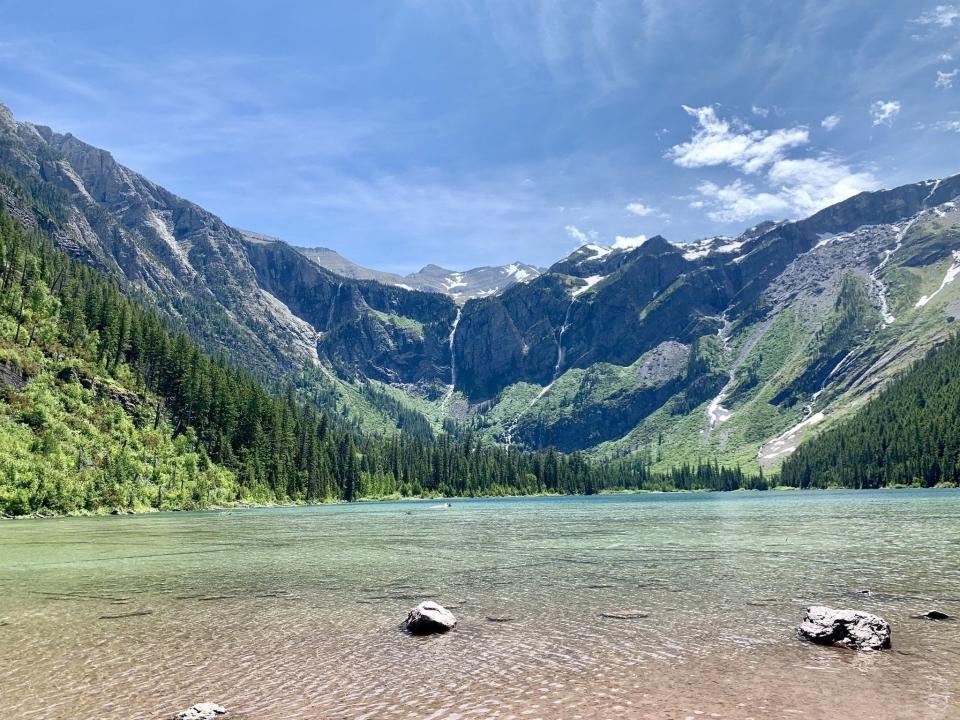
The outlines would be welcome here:
M 248 237 L 260 237 L 256 233 L 244 231 Z M 518 282 L 527 282 L 543 271 L 533 265 L 515 262 L 510 265 L 495 265 L 471 268 L 470 270 L 448 270 L 439 265 L 427 265 L 409 275 L 395 275 L 380 270 L 370 270 L 347 260 L 336 250 L 329 248 L 298 247 L 301 254 L 313 260 L 320 267 L 354 280 L 376 280 L 385 285 L 424 290 L 449 295 L 458 304 L 471 298 L 494 295 Z

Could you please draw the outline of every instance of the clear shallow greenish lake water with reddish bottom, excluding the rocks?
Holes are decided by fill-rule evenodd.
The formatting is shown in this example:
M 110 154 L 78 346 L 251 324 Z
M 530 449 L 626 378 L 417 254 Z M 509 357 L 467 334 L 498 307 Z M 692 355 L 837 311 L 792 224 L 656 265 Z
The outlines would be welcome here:
M 0 523 L 2 716 L 960 718 L 960 622 L 910 617 L 960 616 L 960 491 L 435 504 Z M 799 642 L 814 603 L 894 649 Z

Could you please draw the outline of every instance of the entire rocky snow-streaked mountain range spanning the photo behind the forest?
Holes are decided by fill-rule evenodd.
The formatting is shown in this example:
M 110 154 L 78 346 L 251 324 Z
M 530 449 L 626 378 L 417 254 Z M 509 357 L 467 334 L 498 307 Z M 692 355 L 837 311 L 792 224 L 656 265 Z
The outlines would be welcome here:
M 22 224 L 204 349 L 381 432 L 770 470 L 944 342 L 960 310 L 960 176 L 736 237 L 396 276 L 230 227 L 2 106 L 0 170 L 37 200 L 0 182 Z

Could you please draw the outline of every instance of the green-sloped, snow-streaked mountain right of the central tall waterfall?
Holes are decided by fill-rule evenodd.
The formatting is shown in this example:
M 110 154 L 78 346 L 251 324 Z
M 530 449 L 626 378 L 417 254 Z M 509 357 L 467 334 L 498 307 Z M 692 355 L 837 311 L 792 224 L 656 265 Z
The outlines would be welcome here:
M 958 195 L 953 177 L 737 238 L 584 246 L 464 307 L 467 417 L 523 446 L 775 468 L 946 336 Z

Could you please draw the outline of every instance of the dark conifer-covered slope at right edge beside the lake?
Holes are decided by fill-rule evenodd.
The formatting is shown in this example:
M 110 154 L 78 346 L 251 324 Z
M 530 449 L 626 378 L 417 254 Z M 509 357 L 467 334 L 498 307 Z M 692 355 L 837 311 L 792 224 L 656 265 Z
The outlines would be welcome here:
M 855 416 L 802 444 L 780 471 L 797 487 L 933 487 L 960 481 L 960 335 Z

